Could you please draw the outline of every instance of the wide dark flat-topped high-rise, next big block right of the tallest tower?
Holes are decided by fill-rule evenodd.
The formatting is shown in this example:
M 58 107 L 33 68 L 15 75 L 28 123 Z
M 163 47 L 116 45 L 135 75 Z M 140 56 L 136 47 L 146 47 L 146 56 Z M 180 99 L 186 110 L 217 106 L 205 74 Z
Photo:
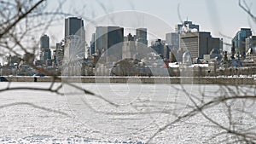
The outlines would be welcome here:
M 122 57 L 122 44 L 124 42 L 124 28 L 119 26 L 96 27 L 96 52 L 102 55 L 108 49 L 108 55 L 116 60 Z M 111 48 L 111 49 L 110 49 Z

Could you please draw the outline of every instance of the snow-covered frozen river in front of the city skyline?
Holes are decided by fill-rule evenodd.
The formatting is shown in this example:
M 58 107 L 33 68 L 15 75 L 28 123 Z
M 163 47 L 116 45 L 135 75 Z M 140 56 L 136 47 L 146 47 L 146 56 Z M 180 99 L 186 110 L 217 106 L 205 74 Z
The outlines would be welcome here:
M 0 89 L 8 85 L 0 83 Z M 11 83 L 9 88 L 44 89 L 49 85 Z M 255 95 L 255 86 L 75 85 L 96 95 L 85 95 L 68 85 L 61 89 L 64 95 L 37 89 L 1 92 L 0 143 L 219 143 L 234 140 L 220 125 L 256 132 L 254 99 L 216 102 L 203 113 L 191 112 L 218 96 Z

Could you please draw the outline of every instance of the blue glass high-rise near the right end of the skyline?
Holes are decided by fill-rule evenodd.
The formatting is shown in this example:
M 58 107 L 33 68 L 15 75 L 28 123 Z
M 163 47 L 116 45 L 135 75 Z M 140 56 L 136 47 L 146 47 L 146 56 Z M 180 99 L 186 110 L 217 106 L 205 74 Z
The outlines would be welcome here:
M 239 32 L 236 32 L 236 36 L 232 39 L 232 53 L 238 55 L 238 57 L 245 58 L 246 56 L 246 38 L 252 36 L 252 30 L 250 28 L 241 28 Z

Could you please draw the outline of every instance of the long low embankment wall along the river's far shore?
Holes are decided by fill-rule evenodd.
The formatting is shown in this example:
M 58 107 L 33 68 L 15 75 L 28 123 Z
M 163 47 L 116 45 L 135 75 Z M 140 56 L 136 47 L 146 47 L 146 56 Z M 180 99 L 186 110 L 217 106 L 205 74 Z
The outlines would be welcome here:
M 9 82 L 52 82 L 52 77 L 4 77 Z M 135 84 L 256 84 L 256 78 L 242 77 L 61 77 L 55 82 Z

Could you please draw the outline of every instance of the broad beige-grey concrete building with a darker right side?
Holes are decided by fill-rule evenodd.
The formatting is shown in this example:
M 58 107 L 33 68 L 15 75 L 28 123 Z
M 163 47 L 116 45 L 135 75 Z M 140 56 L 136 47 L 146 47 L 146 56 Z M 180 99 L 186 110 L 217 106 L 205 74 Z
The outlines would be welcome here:
M 215 49 L 222 49 L 222 39 L 211 36 L 210 32 L 188 32 L 180 35 L 180 48 L 189 51 L 192 60 L 202 59 Z

